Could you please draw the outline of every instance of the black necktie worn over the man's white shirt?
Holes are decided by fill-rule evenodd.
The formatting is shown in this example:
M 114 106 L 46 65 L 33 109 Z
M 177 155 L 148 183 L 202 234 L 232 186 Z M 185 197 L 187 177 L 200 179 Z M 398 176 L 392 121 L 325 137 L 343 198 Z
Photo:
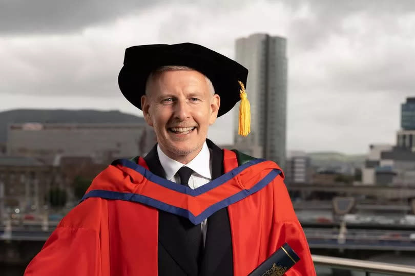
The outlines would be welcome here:
M 193 169 L 190 167 L 181 167 L 177 174 L 180 177 L 180 184 L 189 187 L 189 178 L 193 173 Z M 194 225 L 188 219 L 182 220 L 183 226 L 186 229 L 187 237 L 189 238 L 189 245 L 191 250 L 191 256 L 196 257 L 196 262 L 200 268 L 200 262 L 202 257 L 202 229 L 200 224 Z

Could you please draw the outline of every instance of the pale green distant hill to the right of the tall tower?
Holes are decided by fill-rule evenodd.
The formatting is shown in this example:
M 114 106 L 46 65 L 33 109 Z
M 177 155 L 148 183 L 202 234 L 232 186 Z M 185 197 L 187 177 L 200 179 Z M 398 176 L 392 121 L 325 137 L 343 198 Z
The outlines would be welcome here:
M 315 152 L 307 153 L 314 166 L 329 166 L 341 163 L 353 164 L 356 167 L 363 165 L 365 155 L 347 155 L 338 152 Z

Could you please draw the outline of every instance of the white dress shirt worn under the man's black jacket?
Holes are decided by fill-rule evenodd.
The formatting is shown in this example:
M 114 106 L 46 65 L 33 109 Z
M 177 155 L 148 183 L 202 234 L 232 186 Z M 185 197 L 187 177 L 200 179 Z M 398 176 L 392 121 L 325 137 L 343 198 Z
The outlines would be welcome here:
M 179 168 L 186 166 L 193 169 L 194 173 L 190 176 L 189 179 L 189 187 L 192 189 L 198 188 L 210 181 L 212 181 L 212 158 L 211 152 L 209 150 L 208 145 L 206 142 L 203 143 L 202 149 L 196 155 L 195 158 L 192 159 L 187 164 L 182 164 L 174 159 L 171 159 L 167 155 L 161 151 L 160 145 L 157 144 L 157 153 L 158 159 L 160 160 L 161 166 L 165 172 L 165 178 L 167 180 L 180 183 L 180 177 L 177 174 Z M 200 224 L 202 227 L 202 234 L 203 234 L 203 245 L 206 241 L 206 229 L 208 227 L 208 220 L 202 221 Z

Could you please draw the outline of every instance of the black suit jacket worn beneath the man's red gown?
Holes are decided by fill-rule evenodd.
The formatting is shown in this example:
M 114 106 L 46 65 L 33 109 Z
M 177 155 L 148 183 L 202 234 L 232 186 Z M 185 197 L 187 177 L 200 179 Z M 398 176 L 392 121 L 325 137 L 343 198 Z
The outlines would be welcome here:
M 211 150 L 212 180 L 223 174 L 222 150 L 209 139 L 206 143 Z M 157 145 L 144 157 L 150 171 L 160 177 L 165 177 L 157 154 Z M 158 221 L 158 274 L 160 276 L 210 276 L 233 275 L 233 256 L 231 241 L 231 226 L 227 208 L 220 209 L 208 218 L 206 241 L 202 253 L 201 264 L 189 256 L 189 242 L 183 218 L 177 215 L 159 211 Z

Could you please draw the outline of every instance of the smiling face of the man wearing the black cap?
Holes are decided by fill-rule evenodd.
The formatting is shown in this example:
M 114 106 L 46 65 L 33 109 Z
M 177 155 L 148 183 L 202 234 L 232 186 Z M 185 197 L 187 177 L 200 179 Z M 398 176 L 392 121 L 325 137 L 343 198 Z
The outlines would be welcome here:
M 144 119 L 153 126 L 161 150 L 188 163 L 216 120 L 219 95 L 212 95 L 205 76 L 194 70 L 165 71 L 149 81 L 148 95 L 141 97 Z

